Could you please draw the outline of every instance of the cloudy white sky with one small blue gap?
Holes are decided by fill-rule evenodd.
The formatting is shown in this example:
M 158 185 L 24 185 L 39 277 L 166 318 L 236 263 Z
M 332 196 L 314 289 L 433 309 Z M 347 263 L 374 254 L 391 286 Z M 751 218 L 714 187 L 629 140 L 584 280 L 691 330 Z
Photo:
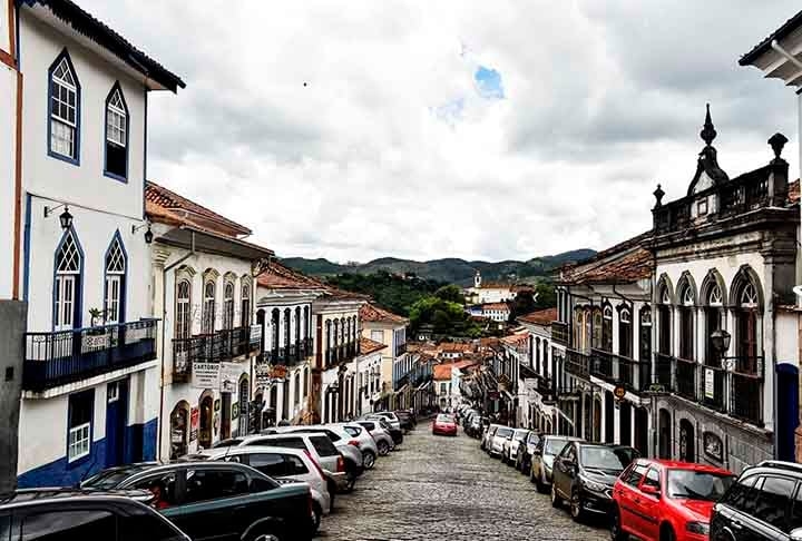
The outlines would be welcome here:
M 605 248 L 685 193 L 705 102 L 731 177 L 775 131 L 799 170 L 793 91 L 737 66 L 793 0 L 80 3 L 187 82 L 149 177 L 280 256 Z

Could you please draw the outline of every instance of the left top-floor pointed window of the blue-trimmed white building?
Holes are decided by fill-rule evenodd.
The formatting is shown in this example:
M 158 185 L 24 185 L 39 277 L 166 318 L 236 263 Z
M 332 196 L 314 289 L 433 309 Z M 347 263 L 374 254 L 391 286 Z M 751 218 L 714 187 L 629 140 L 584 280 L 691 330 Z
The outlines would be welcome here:
M 67 50 L 50 67 L 49 153 L 78 163 L 80 85 Z

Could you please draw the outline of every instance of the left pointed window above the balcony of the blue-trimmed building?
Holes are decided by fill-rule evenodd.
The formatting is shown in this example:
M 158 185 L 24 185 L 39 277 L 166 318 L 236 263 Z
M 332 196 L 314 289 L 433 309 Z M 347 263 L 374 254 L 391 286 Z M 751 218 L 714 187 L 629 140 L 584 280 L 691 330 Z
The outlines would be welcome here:
M 56 249 L 53 282 L 53 331 L 80 326 L 81 274 L 84 252 L 75 229 L 67 229 Z

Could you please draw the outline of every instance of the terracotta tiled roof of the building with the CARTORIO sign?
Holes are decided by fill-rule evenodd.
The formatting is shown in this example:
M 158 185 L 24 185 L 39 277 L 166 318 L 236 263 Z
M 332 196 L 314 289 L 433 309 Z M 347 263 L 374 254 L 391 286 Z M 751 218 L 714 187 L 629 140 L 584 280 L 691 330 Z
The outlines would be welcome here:
M 145 183 L 145 212 L 154 222 L 195 225 L 223 235 L 251 235 L 251 229 L 151 180 Z

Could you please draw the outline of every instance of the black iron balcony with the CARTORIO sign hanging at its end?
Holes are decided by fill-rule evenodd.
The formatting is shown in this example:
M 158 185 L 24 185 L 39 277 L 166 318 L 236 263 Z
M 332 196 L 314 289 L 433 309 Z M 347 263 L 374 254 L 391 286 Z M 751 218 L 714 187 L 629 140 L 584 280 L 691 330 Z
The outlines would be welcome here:
M 261 338 L 251 327 L 236 327 L 173 340 L 173 381 L 188 382 L 193 363 L 219 363 L 260 352 Z

